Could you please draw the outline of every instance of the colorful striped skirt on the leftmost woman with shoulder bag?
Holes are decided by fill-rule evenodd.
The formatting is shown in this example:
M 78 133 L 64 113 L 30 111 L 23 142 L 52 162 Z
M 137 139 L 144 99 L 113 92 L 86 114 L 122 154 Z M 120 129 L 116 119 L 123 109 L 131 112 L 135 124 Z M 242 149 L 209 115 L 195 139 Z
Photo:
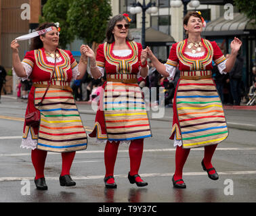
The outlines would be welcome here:
M 86 149 L 87 134 L 72 92 L 49 88 L 43 105 L 38 107 L 45 89 L 35 88 L 35 107 L 41 113 L 37 148 L 59 153 Z

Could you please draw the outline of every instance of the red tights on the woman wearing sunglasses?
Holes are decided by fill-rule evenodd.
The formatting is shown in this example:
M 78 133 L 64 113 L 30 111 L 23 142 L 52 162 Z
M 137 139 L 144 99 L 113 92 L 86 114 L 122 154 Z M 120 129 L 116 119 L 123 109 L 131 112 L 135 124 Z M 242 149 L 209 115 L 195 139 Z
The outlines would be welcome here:
M 129 146 L 129 157 L 130 157 L 130 175 L 135 175 L 139 172 L 140 163 L 142 161 L 144 139 L 131 140 Z M 116 162 L 116 155 L 119 149 L 119 142 L 107 142 L 104 152 L 104 160 L 106 167 L 106 177 L 114 176 L 114 164 Z M 142 182 L 140 177 L 135 178 L 135 181 Z M 114 180 L 110 178 L 107 182 L 113 184 Z

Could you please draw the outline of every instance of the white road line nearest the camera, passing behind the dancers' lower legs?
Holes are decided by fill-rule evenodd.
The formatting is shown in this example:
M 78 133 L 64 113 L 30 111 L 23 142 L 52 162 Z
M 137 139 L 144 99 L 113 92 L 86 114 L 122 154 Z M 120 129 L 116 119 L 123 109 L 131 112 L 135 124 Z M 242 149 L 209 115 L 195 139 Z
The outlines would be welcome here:
M 174 173 L 142 173 L 141 177 L 172 177 Z M 218 171 L 219 175 L 252 175 L 256 171 Z M 206 172 L 186 172 L 183 175 L 207 175 Z M 115 178 L 127 178 L 125 175 L 114 175 Z M 72 176 L 72 180 L 98 180 L 103 179 L 104 175 L 87 175 L 87 176 Z M 46 180 L 59 180 L 59 177 L 45 177 Z M 34 180 L 34 177 L 1 177 L 0 182 Z

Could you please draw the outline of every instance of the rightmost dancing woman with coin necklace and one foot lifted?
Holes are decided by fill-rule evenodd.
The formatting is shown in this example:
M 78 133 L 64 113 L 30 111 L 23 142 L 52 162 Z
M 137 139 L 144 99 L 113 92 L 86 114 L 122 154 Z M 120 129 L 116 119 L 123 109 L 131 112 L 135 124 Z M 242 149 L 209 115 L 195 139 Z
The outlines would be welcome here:
M 173 102 L 173 128 L 170 137 L 177 147 L 172 178 L 175 188 L 186 188 L 182 170 L 190 148 L 199 146 L 205 147 L 202 168 L 207 171 L 209 178 L 217 180 L 219 176 L 211 159 L 217 144 L 228 137 L 221 100 L 211 78 L 212 61 L 215 61 L 221 74 L 230 72 L 242 43 L 234 38 L 230 45 L 231 57 L 226 59 L 215 41 L 201 38 L 204 25 L 200 11 L 189 12 L 184 18 L 187 38 L 171 47 L 165 64 L 160 63 L 147 47 L 148 57 L 163 76 L 172 80 L 177 66 L 180 71 Z

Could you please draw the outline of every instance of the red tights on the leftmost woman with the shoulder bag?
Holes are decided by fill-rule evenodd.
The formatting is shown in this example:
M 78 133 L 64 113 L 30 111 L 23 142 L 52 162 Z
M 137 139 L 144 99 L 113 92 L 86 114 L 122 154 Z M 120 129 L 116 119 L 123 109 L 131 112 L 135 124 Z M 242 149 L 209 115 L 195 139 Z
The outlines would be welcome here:
M 60 175 L 70 175 L 70 167 L 72 165 L 75 153 L 75 151 L 62 153 L 62 173 Z M 47 151 L 42 151 L 39 149 L 31 151 L 31 159 L 36 172 L 35 180 L 45 177 L 44 169 L 46 156 Z

